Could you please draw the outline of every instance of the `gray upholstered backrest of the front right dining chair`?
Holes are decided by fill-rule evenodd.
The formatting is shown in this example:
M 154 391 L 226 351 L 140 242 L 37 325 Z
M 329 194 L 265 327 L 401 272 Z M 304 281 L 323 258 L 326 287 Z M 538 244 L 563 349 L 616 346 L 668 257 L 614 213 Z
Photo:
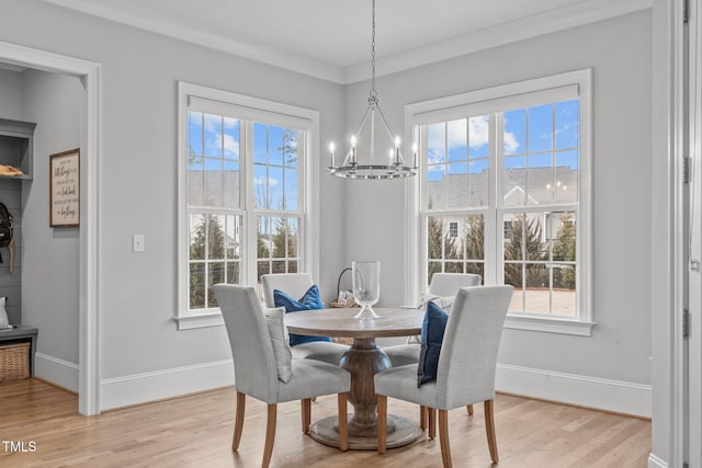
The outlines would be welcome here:
M 439 355 L 439 408 L 456 408 L 495 397 L 497 352 L 513 290 L 512 286 L 458 290 Z

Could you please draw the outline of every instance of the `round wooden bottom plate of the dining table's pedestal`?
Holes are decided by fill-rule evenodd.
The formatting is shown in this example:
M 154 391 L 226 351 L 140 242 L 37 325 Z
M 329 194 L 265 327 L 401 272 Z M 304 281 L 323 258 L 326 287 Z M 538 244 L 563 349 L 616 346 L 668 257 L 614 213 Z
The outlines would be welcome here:
M 349 419 L 351 419 L 351 414 L 349 414 Z M 422 434 L 419 424 L 394 414 L 387 415 L 387 448 L 396 448 L 411 444 Z M 390 427 L 395 427 L 395 430 L 390 432 Z M 339 431 L 337 429 L 337 416 L 328 416 L 312 424 L 309 426 L 309 436 L 321 444 L 338 448 Z M 349 449 L 375 450 L 377 449 L 377 435 L 349 434 Z

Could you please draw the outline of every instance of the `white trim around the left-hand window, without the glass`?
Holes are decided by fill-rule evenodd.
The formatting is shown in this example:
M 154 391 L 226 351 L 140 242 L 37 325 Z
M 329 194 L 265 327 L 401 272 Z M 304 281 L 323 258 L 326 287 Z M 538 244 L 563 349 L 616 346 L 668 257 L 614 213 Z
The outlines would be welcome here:
M 305 163 L 301 174 L 301 191 L 304 192 L 304 214 L 302 264 L 304 270 L 313 277 L 319 276 L 319 112 L 295 105 L 283 104 L 259 98 L 237 94 L 229 91 L 202 87 L 199 84 L 178 82 L 178 295 L 173 320 L 178 324 L 178 330 L 189 330 L 203 327 L 216 327 L 224 324 L 222 312 L 208 309 L 203 312 L 192 313 L 188 308 L 188 168 L 185 164 L 184 151 L 188 148 L 188 122 L 186 113 L 189 100 L 205 99 L 219 102 L 223 106 L 237 106 L 246 116 L 260 116 L 269 114 L 267 119 L 280 118 L 285 121 L 297 119 L 304 123 L 305 129 Z M 270 117 L 270 118 L 269 118 Z M 280 121 L 273 121 L 278 123 Z M 267 122 L 268 123 L 268 122 Z M 246 161 L 251 164 L 251 161 Z M 242 193 L 245 203 L 250 198 L 249 192 Z M 248 206 L 248 205 L 246 205 Z M 302 232 L 302 229 L 305 229 Z M 244 232 L 245 242 L 248 246 L 250 235 Z M 251 263 L 251 262 L 249 262 Z M 256 286 L 256 275 L 251 277 L 250 272 L 242 271 L 242 284 Z

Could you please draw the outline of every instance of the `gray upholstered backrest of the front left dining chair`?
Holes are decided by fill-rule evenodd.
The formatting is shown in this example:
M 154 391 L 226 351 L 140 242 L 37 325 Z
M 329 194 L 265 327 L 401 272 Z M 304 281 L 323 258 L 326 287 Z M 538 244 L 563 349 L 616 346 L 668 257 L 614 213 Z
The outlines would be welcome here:
M 229 284 L 213 288 L 229 335 L 237 391 L 276 402 L 275 356 L 256 290 Z

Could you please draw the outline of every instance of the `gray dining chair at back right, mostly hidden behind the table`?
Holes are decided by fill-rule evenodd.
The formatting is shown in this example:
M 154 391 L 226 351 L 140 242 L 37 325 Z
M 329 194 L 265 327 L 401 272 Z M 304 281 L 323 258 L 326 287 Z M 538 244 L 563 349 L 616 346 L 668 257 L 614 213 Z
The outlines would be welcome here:
M 472 273 L 434 273 L 429 283 L 427 297 L 452 297 L 462 287 L 478 286 L 482 281 L 480 275 Z M 410 336 L 410 339 L 414 339 L 414 336 Z M 393 367 L 399 367 L 407 364 L 417 364 L 419 349 L 420 343 L 418 340 L 408 340 L 405 344 L 386 346 L 383 350 L 387 353 L 387 357 L 390 358 Z

